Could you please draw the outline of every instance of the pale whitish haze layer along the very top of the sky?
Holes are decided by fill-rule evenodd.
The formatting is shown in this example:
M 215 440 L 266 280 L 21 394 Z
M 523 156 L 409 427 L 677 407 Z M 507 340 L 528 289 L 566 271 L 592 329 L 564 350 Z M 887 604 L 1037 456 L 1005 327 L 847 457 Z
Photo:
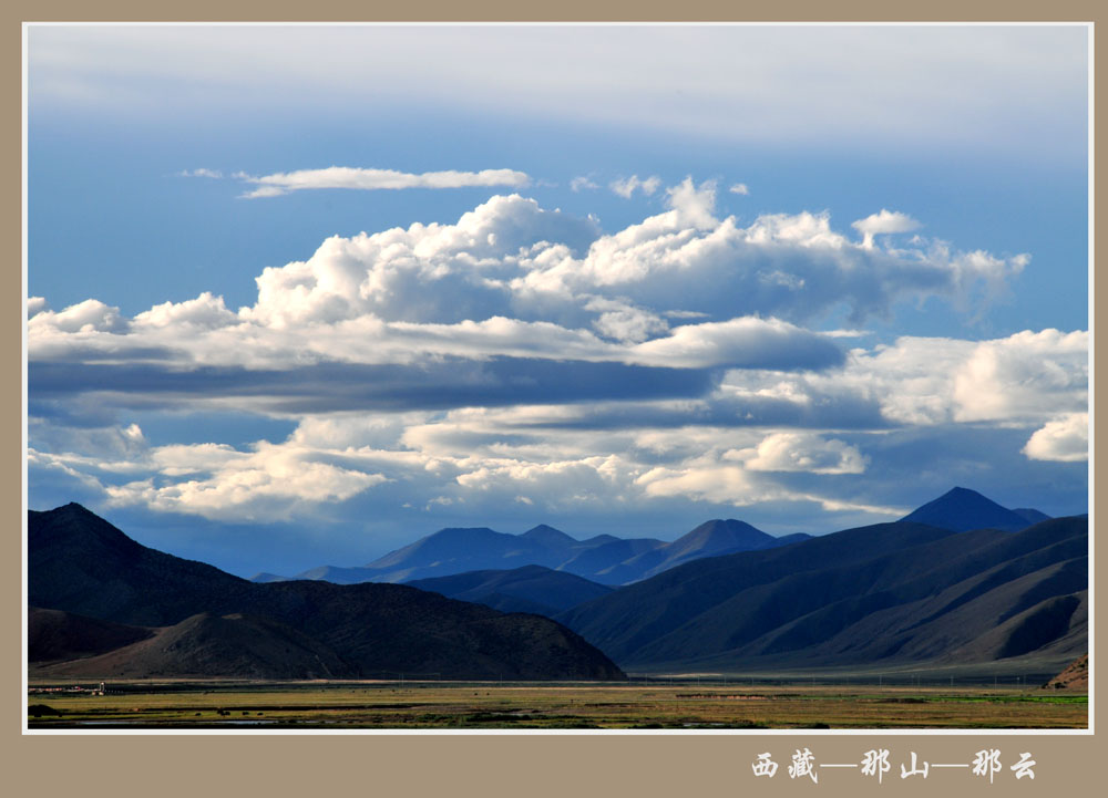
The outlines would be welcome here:
M 1080 25 L 32 25 L 29 43 L 37 103 L 111 114 L 295 102 L 365 108 L 372 124 L 454 107 L 732 142 L 956 141 L 1035 157 L 1084 147 L 1087 127 Z

